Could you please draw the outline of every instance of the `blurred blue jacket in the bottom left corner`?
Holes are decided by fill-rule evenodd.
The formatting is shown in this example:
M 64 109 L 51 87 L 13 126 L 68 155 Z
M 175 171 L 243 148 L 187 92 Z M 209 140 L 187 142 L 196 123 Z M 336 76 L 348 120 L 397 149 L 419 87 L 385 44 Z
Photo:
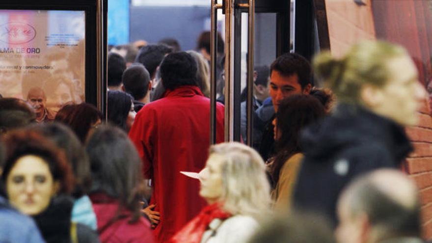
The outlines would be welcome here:
M 0 196 L 0 243 L 45 243 L 33 219 L 13 209 Z

